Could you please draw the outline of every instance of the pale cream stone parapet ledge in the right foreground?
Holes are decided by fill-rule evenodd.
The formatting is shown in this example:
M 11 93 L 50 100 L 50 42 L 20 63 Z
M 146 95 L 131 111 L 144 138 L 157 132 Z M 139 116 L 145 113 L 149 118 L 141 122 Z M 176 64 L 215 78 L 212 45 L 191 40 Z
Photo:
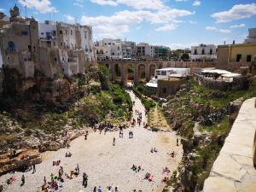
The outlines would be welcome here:
M 212 166 L 210 176 L 204 183 L 203 192 L 255 191 L 256 170 L 253 167 L 252 153 L 255 119 L 254 97 L 242 104 L 230 134 Z

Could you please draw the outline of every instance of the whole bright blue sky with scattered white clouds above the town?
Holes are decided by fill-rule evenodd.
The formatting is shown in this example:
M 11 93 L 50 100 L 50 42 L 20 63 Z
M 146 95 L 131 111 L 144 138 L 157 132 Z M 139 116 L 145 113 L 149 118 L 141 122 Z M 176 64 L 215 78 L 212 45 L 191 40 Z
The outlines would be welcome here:
M 93 26 L 94 40 L 131 41 L 189 48 L 237 43 L 256 27 L 253 0 L 0 0 L 9 15 L 15 3 L 22 16 Z M 26 9 L 25 9 L 26 6 Z

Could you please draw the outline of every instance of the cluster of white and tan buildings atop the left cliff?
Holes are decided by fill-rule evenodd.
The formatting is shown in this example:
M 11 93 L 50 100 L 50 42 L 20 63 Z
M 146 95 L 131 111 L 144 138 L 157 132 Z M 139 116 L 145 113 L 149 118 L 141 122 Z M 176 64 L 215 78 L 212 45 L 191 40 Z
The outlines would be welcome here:
M 70 77 L 96 65 L 91 26 L 38 23 L 20 17 L 17 6 L 1 27 L 0 43 L 0 67 L 15 68 L 24 79 L 34 78 L 36 71 L 49 78 L 58 73 Z

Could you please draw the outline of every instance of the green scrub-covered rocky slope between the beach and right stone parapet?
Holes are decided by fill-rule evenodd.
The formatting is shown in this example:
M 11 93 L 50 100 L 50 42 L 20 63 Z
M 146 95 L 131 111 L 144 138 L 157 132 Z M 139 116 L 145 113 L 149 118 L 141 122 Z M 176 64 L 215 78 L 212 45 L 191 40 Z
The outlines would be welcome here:
M 183 137 L 183 161 L 168 183 L 174 191 L 201 191 L 224 139 L 245 99 L 256 96 L 255 81 L 249 90 L 211 90 L 193 80 L 169 96 L 163 112 Z M 241 98 L 242 97 L 242 98 Z M 238 98 L 241 98 L 239 101 Z M 230 102 L 235 104 L 230 104 Z M 168 187 L 166 187 L 166 191 Z

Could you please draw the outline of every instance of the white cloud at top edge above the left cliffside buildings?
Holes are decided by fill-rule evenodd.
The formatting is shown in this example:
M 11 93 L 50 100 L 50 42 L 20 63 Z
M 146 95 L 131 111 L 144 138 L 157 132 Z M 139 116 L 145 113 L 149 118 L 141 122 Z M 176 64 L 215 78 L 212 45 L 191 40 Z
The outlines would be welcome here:
M 58 12 L 55 7 L 51 6 L 50 0 L 19 0 L 19 3 L 24 7 L 36 9 L 41 14 Z

